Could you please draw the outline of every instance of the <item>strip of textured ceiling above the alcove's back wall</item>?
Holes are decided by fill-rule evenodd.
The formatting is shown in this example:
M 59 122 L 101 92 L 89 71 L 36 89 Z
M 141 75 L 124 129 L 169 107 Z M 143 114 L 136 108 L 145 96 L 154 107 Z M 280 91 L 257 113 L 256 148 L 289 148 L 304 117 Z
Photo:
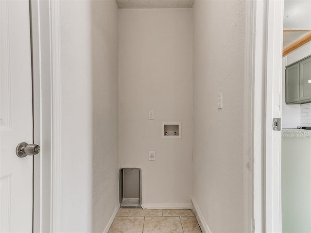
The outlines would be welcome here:
M 191 8 L 193 0 L 117 0 L 119 8 Z

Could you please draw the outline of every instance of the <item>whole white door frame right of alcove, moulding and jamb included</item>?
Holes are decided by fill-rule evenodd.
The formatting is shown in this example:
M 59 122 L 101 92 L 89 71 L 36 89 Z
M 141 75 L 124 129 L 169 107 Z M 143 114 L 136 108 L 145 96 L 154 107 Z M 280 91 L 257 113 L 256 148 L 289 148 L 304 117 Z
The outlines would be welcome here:
M 245 185 L 252 190 L 253 219 L 245 218 L 258 233 L 282 232 L 281 132 L 272 130 L 272 119 L 281 118 L 283 6 L 284 0 L 246 1 L 245 78 L 251 81 L 245 82 L 245 102 L 251 100 L 251 113 L 245 118 L 251 118 L 253 182 Z

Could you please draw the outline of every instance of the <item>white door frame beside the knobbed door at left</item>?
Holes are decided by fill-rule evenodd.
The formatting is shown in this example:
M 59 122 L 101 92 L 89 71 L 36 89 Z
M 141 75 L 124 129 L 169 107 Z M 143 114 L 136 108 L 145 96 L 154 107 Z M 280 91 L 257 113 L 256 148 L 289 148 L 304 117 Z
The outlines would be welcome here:
M 61 61 L 59 0 L 29 0 L 32 12 L 34 136 L 33 232 L 60 232 Z

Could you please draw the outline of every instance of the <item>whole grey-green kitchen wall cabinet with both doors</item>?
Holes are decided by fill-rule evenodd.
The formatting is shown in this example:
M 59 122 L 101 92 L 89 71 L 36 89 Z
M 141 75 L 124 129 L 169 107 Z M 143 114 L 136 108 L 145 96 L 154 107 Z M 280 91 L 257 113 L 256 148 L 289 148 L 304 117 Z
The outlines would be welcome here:
M 287 104 L 311 102 L 311 56 L 286 67 L 285 88 Z

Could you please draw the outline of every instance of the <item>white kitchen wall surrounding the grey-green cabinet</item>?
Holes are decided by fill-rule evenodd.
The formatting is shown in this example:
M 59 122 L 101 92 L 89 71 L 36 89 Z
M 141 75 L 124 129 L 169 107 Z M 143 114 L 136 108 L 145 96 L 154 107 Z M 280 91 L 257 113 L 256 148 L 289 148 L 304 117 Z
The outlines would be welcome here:
M 285 100 L 285 67 L 291 65 L 300 59 L 311 55 L 311 42 L 301 46 L 283 57 L 283 79 L 282 79 L 282 127 L 296 128 L 297 126 L 309 126 L 308 121 L 305 122 L 304 116 L 301 116 L 300 104 L 286 104 Z

